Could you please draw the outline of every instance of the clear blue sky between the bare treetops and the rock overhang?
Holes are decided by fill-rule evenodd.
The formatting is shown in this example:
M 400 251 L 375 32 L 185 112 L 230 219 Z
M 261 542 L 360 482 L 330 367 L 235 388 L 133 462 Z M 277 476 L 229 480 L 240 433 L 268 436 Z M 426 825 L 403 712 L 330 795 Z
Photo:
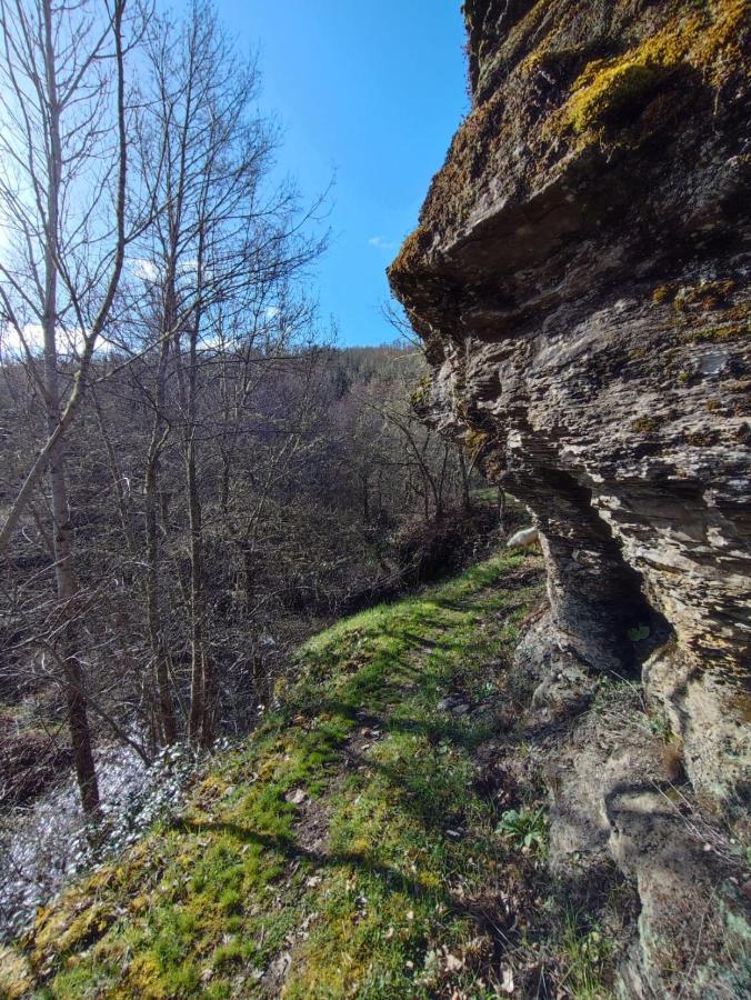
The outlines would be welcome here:
M 257 49 L 261 108 L 284 129 L 279 168 L 309 198 L 336 173 L 331 246 L 318 267 L 342 344 L 393 340 L 384 268 L 414 228 L 468 110 L 460 0 L 217 0 Z

